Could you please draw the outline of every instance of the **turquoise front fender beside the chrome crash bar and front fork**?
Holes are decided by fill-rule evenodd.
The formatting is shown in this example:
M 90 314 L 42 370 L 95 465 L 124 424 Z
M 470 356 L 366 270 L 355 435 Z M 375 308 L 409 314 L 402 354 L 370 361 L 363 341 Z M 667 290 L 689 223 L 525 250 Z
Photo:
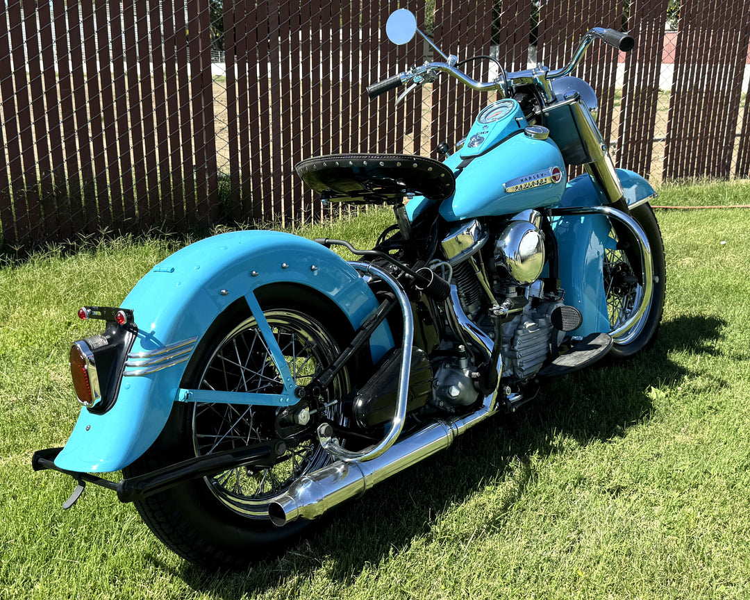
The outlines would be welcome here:
M 616 169 L 628 207 L 648 202 L 656 193 L 643 177 L 626 169 Z M 601 206 L 607 198 L 589 175 L 568 182 L 559 208 Z M 610 222 L 601 214 L 555 217 L 552 227 L 559 248 L 559 277 L 565 290 L 565 304 L 583 316 L 581 326 L 570 335 L 609 332 L 607 294 L 602 280 L 602 261 L 607 250 L 616 248 L 610 237 Z

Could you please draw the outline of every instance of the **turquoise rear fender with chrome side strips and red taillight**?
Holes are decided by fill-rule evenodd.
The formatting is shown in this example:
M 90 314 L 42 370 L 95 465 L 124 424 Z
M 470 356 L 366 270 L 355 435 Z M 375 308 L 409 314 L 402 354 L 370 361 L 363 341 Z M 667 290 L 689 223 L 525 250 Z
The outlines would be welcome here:
M 351 266 L 308 239 L 246 231 L 187 246 L 155 266 L 122 302 L 123 308 L 133 311 L 139 329 L 131 356 L 153 356 L 185 343 L 169 353 L 184 360 L 159 371 L 123 377 L 117 401 L 107 413 L 82 409 L 55 465 L 76 472 L 109 472 L 136 460 L 160 434 L 172 404 L 185 399 L 184 394 L 178 398 L 184 369 L 211 323 L 241 298 L 251 310 L 257 309 L 254 290 L 275 283 L 317 290 L 341 309 L 355 329 L 377 307 L 374 294 Z M 254 314 L 259 324 L 265 323 L 262 314 L 260 319 L 257 310 Z M 371 338 L 373 359 L 380 359 L 392 345 L 389 330 L 380 326 Z M 133 371 L 138 368 L 130 368 Z

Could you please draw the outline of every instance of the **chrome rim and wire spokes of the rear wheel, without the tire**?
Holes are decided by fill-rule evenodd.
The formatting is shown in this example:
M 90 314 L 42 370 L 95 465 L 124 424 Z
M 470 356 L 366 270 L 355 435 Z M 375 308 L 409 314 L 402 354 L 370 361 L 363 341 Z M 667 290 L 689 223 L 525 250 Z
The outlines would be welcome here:
M 313 377 L 338 356 L 338 347 L 326 329 L 302 312 L 275 309 L 266 311 L 266 320 L 287 359 L 297 386 L 306 386 Z M 341 399 L 347 388 L 339 378 L 329 392 Z M 236 326 L 220 342 L 214 356 L 205 365 L 200 388 L 229 392 L 281 392 L 284 386 L 257 329 L 254 317 Z M 327 403 L 326 403 L 327 404 Z M 326 419 L 342 422 L 341 404 L 311 407 Z M 298 446 L 287 450 L 274 466 L 266 469 L 240 467 L 205 478 L 216 498 L 232 511 L 251 519 L 268 519 L 269 500 L 287 490 L 292 482 L 320 469 L 328 455 L 310 437 L 311 432 L 284 417 L 287 413 L 273 407 L 248 407 L 236 404 L 194 404 L 190 430 L 196 456 L 250 446 L 278 437 L 307 434 Z

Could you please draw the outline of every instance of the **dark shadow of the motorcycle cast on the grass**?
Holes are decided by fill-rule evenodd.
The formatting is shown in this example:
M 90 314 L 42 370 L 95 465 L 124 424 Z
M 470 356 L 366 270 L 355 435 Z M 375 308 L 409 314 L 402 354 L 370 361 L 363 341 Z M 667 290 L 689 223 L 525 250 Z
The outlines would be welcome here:
M 649 389 L 691 376 L 685 365 L 669 356 L 715 353 L 712 343 L 725 325 L 715 317 L 700 316 L 664 321 L 648 352 L 627 362 L 603 361 L 598 368 L 545 386 L 517 413 L 488 419 L 459 437 L 451 452 L 389 479 L 369 491 L 366 502 L 355 500 L 333 511 L 335 520 L 324 517 L 313 534 L 276 559 L 237 573 L 208 573 L 184 562 L 175 576 L 193 589 L 225 598 L 284 585 L 292 577 L 306 580 L 323 565 L 333 580 L 350 583 L 367 565 L 407 549 L 417 538 L 430 538 L 443 511 L 460 505 L 481 487 L 512 477 L 514 491 L 497 509 L 499 518 L 523 497 L 532 481 L 532 456 L 560 452 L 561 438 L 585 446 L 616 439 L 628 427 L 647 422 L 652 412 Z

